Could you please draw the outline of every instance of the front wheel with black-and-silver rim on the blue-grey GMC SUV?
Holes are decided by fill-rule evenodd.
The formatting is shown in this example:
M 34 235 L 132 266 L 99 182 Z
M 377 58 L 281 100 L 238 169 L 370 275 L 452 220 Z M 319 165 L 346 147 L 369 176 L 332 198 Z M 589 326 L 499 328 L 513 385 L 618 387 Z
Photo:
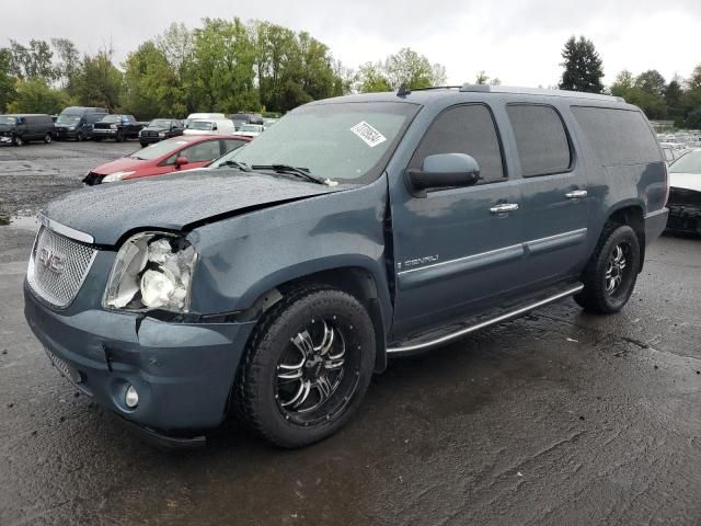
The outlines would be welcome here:
M 232 390 L 237 414 L 280 447 L 321 441 L 360 404 L 375 348 L 372 321 L 355 297 L 324 286 L 295 289 L 263 316 L 249 340 Z

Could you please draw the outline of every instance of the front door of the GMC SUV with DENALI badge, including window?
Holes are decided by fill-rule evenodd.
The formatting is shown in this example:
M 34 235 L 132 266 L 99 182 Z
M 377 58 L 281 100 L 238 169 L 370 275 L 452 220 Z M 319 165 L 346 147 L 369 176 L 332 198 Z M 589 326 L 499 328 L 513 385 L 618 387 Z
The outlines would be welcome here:
M 420 169 L 436 153 L 472 156 L 483 180 L 423 198 L 404 184 L 391 185 L 397 338 L 475 312 L 521 279 L 520 193 L 518 182 L 507 176 L 491 108 L 464 104 L 444 110 L 407 169 Z M 499 213 L 499 205 L 513 211 Z

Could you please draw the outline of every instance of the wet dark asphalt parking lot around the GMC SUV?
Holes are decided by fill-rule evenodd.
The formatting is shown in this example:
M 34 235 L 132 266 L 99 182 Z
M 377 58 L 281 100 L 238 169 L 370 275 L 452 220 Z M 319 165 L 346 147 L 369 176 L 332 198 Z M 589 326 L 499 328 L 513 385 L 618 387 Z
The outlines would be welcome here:
M 30 215 L 128 142 L 0 147 Z M 375 378 L 338 434 L 234 421 L 145 445 L 51 368 L 23 318 L 31 221 L 0 226 L 0 525 L 701 524 L 701 239 L 663 237 L 613 317 L 552 305 Z

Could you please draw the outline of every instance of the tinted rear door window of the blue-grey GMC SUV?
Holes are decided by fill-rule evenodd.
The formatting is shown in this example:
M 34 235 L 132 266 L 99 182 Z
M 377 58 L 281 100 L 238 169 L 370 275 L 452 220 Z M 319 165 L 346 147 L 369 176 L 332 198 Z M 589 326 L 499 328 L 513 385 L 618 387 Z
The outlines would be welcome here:
M 506 106 L 525 178 L 562 173 L 572 167 L 572 151 L 560 114 L 552 106 Z

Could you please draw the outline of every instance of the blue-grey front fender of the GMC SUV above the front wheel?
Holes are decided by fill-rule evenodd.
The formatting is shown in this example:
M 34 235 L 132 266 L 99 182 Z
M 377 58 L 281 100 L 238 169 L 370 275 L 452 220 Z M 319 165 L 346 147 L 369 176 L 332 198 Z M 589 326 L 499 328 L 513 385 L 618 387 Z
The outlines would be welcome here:
M 245 310 L 271 288 L 340 267 L 370 273 L 381 302 L 389 304 L 386 203 L 387 182 L 380 178 L 196 228 L 188 235 L 199 254 L 191 310 Z

